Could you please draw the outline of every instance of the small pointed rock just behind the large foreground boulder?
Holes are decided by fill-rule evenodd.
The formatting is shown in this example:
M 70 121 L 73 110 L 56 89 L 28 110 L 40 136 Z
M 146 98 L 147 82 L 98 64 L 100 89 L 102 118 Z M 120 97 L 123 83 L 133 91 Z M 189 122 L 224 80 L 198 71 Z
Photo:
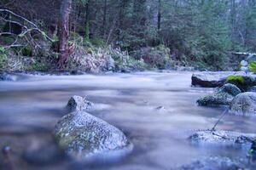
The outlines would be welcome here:
M 90 111 L 93 104 L 85 97 L 74 95 L 67 102 L 67 109 L 70 111 Z

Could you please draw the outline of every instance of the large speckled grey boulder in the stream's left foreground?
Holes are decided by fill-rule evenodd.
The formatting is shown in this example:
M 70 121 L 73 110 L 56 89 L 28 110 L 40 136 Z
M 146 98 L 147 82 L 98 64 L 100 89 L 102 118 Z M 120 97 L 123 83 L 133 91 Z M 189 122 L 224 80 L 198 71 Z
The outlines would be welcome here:
M 130 145 L 118 128 L 84 111 L 63 116 L 55 126 L 55 138 L 69 155 L 80 159 L 125 150 Z

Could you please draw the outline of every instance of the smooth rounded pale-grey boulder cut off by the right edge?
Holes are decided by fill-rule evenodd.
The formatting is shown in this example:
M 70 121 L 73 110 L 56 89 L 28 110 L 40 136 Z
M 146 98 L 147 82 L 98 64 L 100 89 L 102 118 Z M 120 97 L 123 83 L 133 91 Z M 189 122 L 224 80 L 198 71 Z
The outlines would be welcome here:
M 236 115 L 256 114 L 256 93 L 238 94 L 231 102 L 230 112 Z

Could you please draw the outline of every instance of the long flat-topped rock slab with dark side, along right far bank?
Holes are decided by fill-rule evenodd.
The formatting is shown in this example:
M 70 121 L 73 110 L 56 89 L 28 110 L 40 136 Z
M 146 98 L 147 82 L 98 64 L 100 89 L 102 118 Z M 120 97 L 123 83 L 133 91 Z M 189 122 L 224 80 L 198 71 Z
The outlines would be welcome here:
M 197 72 L 192 75 L 192 85 L 201 86 L 204 88 L 216 88 L 224 85 L 227 77 L 230 77 L 230 76 L 241 76 L 241 77 L 245 77 L 245 79 L 247 79 L 247 77 L 252 77 L 253 82 L 250 82 L 250 85 L 253 85 L 254 83 L 256 85 L 256 75 L 253 75 L 253 74 L 247 75 L 243 71 Z

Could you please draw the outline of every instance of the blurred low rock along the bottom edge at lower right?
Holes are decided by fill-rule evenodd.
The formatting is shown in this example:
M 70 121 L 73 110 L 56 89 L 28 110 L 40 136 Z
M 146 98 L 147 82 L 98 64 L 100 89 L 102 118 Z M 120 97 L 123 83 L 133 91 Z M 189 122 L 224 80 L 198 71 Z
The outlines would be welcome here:
M 198 161 L 194 161 L 189 165 L 183 165 L 176 168 L 177 170 L 238 170 L 238 169 L 255 169 L 255 163 L 248 163 L 247 159 L 223 156 L 206 157 Z

